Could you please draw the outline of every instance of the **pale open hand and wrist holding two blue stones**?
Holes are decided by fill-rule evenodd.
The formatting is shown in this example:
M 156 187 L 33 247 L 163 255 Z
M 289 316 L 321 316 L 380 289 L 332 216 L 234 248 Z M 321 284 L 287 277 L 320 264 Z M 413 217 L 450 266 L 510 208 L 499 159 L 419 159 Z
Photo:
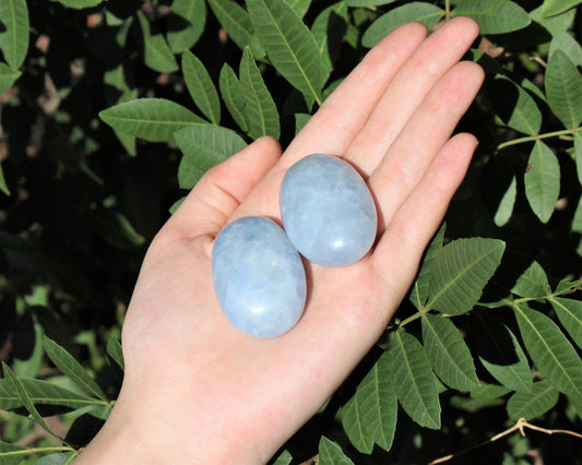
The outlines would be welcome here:
M 477 141 L 451 134 L 483 82 L 477 64 L 460 62 L 477 35 L 464 17 L 428 36 L 400 27 L 283 154 L 261 138 L 201 179 L 147 251 L 123 323 L 121 393 L 75 463 L 265 463 L 317 413 L 385 330 L 464 178 Z M 306 263 L 302 318 L 256 339 L 221 311 L 213 242 L 236 218 L 280 218 L 283 176 L 311 153 L 360 170 L 378 239 L 353 265 Z

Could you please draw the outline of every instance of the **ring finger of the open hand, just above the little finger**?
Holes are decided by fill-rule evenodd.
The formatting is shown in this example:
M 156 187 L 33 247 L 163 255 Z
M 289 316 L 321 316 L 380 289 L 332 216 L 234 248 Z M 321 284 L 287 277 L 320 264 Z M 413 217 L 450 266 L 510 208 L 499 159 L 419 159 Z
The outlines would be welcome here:
M 380 234 L 451 136 L 483 79 L 478 64 L 453 67 L 418 106 L 373 170 L 368 186 L 377 199 Z

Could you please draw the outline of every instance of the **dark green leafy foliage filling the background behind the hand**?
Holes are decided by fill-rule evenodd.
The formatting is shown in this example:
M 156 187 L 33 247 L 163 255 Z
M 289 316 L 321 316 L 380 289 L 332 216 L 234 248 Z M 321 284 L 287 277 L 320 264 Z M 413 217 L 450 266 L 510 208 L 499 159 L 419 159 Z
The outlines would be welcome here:
M 461 15 L 487 73 L 467 180 L 409 299 L 273 463 L 426 463 L 520 418 L 580 431 L 580 4 L 0 0 L 0 462 L 70 463 L 107 418 L 146 245 L 209 168 L 288 144 L 399 25 Z M 581 463 L 557 437 L 462 460 Z

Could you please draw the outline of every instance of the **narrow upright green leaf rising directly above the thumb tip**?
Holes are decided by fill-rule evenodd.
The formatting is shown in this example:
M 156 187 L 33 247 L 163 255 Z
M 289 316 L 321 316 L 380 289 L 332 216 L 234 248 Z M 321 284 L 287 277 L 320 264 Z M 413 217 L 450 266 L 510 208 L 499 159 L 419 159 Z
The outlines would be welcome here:
M 249 47 L 245 48 L 240 60 L 240 87 L 245 99 L 249 136 L 272 135 L 278 139 L 280 122 L 275 102 L 269 93 L 261 72 L 254 62 Z

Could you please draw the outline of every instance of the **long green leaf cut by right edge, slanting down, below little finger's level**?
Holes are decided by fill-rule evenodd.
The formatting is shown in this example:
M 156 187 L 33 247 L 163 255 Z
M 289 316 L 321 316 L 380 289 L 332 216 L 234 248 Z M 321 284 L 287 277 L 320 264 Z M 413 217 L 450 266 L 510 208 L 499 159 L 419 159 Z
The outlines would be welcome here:
M 558 391 L 582 395 L 582 360 L 560 329 L 545 314 L 513 303 L 521 336 L 539 372 Z

